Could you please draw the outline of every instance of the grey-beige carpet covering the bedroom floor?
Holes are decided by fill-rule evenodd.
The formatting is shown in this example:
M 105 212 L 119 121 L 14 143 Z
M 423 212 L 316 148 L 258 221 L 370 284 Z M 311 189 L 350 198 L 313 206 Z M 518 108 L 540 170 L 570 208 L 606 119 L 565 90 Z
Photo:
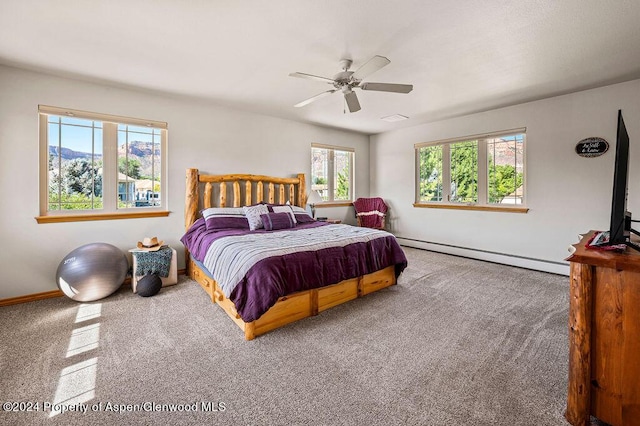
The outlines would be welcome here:
M 4 307 L 0 423 L 566 425 L 568 277 L 404 250 L 398 285 L 249 342 L 185 277 Z

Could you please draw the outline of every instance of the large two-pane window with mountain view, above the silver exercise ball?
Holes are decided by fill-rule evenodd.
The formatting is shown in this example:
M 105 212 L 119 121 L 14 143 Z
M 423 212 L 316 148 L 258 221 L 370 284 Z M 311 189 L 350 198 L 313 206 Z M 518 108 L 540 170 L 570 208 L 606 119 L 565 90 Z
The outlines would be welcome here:
M 167 124 L 39 107 L 39 222 L 162 216 Z

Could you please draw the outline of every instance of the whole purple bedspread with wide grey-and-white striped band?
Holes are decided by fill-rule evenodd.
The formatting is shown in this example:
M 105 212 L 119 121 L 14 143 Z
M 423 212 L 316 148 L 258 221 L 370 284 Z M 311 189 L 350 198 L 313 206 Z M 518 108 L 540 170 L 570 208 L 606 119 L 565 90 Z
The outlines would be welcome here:
M 407 259 L 393 234 L 341 224 L 303 223 L 294 229 L 207 230 L 198 219 L 181 238 L 233 302 L 245 322 L 280 297 L 395 266 Z

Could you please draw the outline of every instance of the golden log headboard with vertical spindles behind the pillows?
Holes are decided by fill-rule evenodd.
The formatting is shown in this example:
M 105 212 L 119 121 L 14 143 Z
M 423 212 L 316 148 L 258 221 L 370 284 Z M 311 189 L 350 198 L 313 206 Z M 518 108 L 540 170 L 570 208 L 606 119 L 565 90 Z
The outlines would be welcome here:
M 288 201 L 295 206 L 305 207 L 307 192 L 304 173 L 299 173 L 295 178 L 281 178 L 238 174 L 201 175 L 198 169 L 187 169 L 186 229 L 198 219 L 202 209 L 242 207 L 262 201 L 272 204 L 285 204 Z

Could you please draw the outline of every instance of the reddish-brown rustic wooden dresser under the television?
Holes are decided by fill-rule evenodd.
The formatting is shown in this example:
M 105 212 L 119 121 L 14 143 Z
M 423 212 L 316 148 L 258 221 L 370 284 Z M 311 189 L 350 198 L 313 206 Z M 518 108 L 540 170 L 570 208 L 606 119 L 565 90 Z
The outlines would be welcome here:
M 569 390 L 565 418 L 640 425 L 640 252 L 575 244 L 569 301 Z

